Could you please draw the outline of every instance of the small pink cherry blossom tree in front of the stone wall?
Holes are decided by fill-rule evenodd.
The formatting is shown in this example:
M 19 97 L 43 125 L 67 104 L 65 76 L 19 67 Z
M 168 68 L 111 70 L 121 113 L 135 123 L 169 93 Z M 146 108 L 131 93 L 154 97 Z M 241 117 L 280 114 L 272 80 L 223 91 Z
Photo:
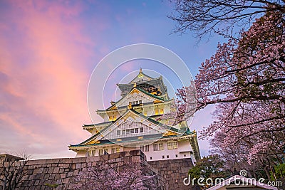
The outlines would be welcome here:
M 142 163 L 118 162 L 95 164 L 81 171 L 75 189 L 147 190 L 159 189 L 155 175 L 149 174 Z

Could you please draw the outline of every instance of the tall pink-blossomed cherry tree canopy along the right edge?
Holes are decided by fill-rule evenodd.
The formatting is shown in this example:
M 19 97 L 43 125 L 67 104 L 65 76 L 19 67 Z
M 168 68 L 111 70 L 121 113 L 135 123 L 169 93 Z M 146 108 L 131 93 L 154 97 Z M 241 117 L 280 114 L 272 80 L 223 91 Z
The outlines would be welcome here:
M 203 137 L 221 131 L 227 134 L 224 143 L 233 144 L 265 133 L 272 137 L 267 144 L 276 142 L 277 150 L 284 151 L 284 142 L 275 138 L 285 131 L 284 31 L 284 14 L 267 13 L 239 41 L 219 45 L 202 64 L 196 79 L 197 108 L 219 103 L 214 112 L 217 120 L 202 132 Z

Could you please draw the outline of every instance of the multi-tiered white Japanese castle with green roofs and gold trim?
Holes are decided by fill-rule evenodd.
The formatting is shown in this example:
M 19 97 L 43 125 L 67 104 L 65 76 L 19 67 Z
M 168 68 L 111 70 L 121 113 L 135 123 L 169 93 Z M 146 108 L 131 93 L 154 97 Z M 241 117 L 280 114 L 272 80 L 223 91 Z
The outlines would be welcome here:
M 69 146 L 76 157 L 140 149 L 147 161 L 191 158 L 195 164 L 200 159 L 197 132 L 186 121 L 169 125 L 169 119 L 163 119 L 173 111 L 174 99 L 168 97 L 162 76 L 152 78 L 140 69 L 130 83 L 117 85 L 120 100 L 96 110 L 103 122 L 83 125 L 91 137 Z

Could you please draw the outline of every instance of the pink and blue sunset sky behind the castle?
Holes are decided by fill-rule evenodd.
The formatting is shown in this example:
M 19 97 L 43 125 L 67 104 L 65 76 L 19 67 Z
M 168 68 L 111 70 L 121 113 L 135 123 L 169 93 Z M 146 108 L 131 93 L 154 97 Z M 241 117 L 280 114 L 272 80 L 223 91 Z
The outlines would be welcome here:
M 68 145 L 90 137 L 82 129 L 92 122 L 90 75 L 102 58 L 123 46 L 152 43 L 168 48 L 195 76 L 221 39 L 196 46 L 191 32 L 173 33 L 176 23 L 167 18 L 173 10 L 170 1 L 0 1 L 0 153 L 75 157 Z M 126 63 L 98 81 L 107 84 L 105 100 L 113 98 L 124 75 L 140 68 L 170 76 L 159 63 Z M 93 106 L 103 109 L 102 103 Z M 191 130 L 207 127 L 213 111 L 208 107 L 197 112 Z M 199 147 L 202 155 L 208 154 L 207 141 L 199 140 Z

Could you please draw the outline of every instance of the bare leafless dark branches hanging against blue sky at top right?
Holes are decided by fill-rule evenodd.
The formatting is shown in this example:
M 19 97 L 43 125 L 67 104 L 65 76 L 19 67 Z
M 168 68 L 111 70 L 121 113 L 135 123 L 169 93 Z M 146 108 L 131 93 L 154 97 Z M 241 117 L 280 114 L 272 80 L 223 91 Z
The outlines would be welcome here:
M 284 0 L 177 0 L 169 17 L 177 21 L 177 32 L 194 31 L 200 39 L 213 32 L 228 36 L 234 28 L 249 28 L 265 13 L 284 13 Z

